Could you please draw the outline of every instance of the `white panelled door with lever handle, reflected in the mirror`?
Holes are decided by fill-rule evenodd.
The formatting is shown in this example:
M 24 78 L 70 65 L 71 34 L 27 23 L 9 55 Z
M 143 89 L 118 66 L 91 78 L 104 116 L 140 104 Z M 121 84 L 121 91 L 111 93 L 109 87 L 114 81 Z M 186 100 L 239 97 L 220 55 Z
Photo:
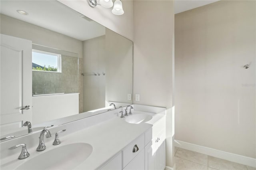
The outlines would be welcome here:
M 1 34 L 1 136 L 32 121 L 32 42 Z M 30 109 L 26 107 L 30 106 Z M 21 110 L 22 108 L 25 108 Z

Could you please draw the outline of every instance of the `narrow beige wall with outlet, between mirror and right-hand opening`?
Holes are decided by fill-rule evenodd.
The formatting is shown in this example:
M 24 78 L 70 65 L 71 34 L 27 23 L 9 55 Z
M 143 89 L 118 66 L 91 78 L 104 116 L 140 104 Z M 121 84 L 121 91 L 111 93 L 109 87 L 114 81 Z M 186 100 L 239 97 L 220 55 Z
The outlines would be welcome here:
M 172 1 L 134 1 L 133 103 L 167 108 L 166 165 L 172 167 Z M 140 101 L 135 101 L 140 94 Z

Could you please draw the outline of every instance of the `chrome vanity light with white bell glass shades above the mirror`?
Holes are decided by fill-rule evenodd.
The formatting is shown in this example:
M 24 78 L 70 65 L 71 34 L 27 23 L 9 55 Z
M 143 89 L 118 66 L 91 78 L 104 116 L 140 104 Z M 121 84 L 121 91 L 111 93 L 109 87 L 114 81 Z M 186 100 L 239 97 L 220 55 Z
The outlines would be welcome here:
M 101 5 L 104 8 L 111 8 L 113 6 L 112 0 L 99 0 L 99 4 L 97 3 L 97 0 L 87 0 L 88 4 L 91 7 L 95 7 L 97 5 Z M 112 10 L 112 13 L 115 15 L 122 15 L 124 14 L 123 5 L 120 0 L 116 0 L 114 2 L 114 7 Z

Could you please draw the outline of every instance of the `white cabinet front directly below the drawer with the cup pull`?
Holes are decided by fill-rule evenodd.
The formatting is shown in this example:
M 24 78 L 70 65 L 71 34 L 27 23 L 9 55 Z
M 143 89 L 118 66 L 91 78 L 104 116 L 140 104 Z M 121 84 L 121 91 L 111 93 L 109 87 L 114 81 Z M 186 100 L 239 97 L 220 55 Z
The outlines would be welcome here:
M 144 170 L 144 149 L 140 151 L 124 170 Z

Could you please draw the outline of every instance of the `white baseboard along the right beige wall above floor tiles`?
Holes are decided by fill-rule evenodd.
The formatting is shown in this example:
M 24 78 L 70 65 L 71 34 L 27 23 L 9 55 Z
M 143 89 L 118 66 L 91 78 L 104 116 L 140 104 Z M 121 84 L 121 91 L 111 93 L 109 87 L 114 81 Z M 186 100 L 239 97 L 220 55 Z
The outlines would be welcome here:
M 216 158 L 229 160 L 231 162 L 236 162 L 236 163 L 247 165 L 247 166 L 256 167 L 256 159 L 255 158 L 242 156 L 242 155 L 238 155 L 238 154 L 233 154 L 230 152 L 224 152 L 222 150 L 208 148 L 205 146 L 200 146 L 200 145 L 196 145 L 196 144 L 192 144 L 192 143 L 188 143 L 188 142 L 183 142 L 180 140 L 174 140 L 174 142 L 175 142 L 175 146 L 179 147 L 179 148 L 192 150 L 194 152 L 199 152 L 202 154 L 214 156 Z

